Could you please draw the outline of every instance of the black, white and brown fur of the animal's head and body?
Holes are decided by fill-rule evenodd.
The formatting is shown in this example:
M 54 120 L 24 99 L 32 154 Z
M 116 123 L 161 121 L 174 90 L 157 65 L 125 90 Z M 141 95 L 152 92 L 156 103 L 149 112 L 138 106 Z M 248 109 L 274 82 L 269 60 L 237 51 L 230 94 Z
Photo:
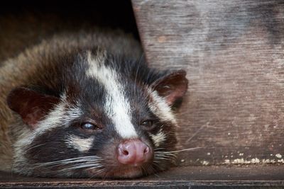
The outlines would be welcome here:
M 7 124 L 1 125 L 9 127 L 13 156 L 4 171 L 133 178 L 174 163 L 172 109 L 187 90 L 185 71 L 148 68 L 128 35 L 55 35 L 6 60 L 0 74 L 0 101 L 7 101 L 1 113 Z M 86 123 L 96 129 L 82 129 Z M 151 159 L 140 166 L 119 164 L 117 146 L 129 139 L 145 143 Z

